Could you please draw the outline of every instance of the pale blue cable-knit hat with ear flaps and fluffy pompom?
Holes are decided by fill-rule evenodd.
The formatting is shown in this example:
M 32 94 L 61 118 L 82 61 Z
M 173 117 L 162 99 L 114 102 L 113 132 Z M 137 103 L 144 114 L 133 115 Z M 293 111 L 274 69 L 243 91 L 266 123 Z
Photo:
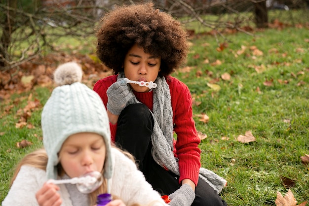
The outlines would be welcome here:
M 71 135 L 97 133 L 104 138 L 106 159 L 104 177 L 112 177 L 111 131 L 105 106 L 99 95 L 80 83 L 82 70 L 77 63 L 60 65 L 54 72 L 57 86 L 44 105 L 41 125 L 43 144 L 47 152 L 48 179 L 57 178 L 58 152 Z

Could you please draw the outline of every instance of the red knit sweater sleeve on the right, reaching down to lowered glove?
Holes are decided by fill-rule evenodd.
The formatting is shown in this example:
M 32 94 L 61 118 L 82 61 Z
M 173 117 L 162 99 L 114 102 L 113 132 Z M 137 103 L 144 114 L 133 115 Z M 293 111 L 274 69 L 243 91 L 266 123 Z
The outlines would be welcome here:
M 191 179 L 195 185 L 200 168 L 200 139 L 197 135 L 192 111 L 192 97 L 187 85 L 174 77 L 167 80 L 170 85 L 174 132 L 177 135 L 175 144 L 179 159 L 179 182 Z

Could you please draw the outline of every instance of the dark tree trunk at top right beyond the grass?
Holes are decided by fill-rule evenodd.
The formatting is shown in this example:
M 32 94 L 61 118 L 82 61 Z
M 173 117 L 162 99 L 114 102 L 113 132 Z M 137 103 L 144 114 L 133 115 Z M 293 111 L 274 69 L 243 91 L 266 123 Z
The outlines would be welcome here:
M 268 27 L 268 13 L 266 0 L 254 3 L 255 23 L 257 28 Z

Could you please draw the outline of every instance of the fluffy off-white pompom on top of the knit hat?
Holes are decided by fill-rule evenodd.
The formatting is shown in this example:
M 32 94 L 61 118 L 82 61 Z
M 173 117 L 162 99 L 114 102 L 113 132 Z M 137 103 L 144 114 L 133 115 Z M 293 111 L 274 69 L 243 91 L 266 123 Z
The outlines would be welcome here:
M 60 65 L 54 72 L 54 81 L 58 86 L 81 82 L 82 70 L 76 62 Z

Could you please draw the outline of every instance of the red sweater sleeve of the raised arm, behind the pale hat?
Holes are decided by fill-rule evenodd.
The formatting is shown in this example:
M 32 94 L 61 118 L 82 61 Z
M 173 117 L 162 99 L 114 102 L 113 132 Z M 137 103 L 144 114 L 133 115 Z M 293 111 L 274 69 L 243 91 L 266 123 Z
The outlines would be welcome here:
M 117 80 L 117 75 L 112 75 L 104 79 L 100 79 L 94 84 L 93 91 L 99 94 L 106 109 L 107 109 L 106 106 L 107 106 L 107 101 L 108 101 L 106 91 L 114 82 L 116 82 L 116 80 Z M 113 125 L 110 123 L 110 129 L 111 129 L 112 141 L 115 142 L 117 124 Z

